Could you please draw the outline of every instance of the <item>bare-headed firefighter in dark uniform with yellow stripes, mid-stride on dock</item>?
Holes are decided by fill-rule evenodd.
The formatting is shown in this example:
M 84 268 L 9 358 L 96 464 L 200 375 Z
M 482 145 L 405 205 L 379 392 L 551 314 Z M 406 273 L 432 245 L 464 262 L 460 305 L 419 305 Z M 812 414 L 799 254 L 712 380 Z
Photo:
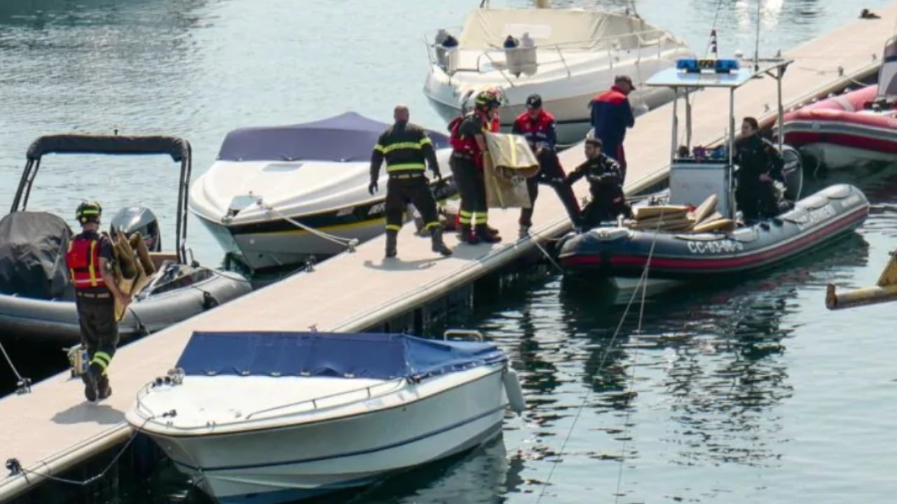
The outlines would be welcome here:
M 436 151 L 427 132 L 421 127 L 408 123 L 408 108 L 396 105 L 393 117 L 396 124 L 380 135 L 374 152 L 370 155 L 370 185 L 368 192 L 377 192 L 380 165 L 387 162 L 389 176 L 385 211 L 387 214 L 387 257 L 396 256 L 398 231 L 402 229 L 402 214 L 407 201 L 411 201 L 421 213 L 423 225 L 430 230 L 433 252 L 450 256 L 451 249 L 442 241 L 442 224 L 436 210 L 436 198 L 430 190 L 430 183 L 424 175 L 426 163 L 436 178 L 442 179 Z

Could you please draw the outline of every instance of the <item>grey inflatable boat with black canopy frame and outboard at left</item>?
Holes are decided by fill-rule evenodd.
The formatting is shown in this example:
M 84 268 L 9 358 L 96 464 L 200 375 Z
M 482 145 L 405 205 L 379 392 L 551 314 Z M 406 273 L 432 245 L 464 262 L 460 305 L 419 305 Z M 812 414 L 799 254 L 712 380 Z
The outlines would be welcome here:
M 187 261 L 187 185 L 190 144 L 168 136 L 50 135 L 31 144 L 11 212 L 0 220 L 0 337 L 80 343 L 74 289 L 65 268 L 73 230 L 57 215 L 26 211 L 41 156 L 52 152 L 169 154 L 181 165 L 178 234 L 173 253 L 161 252 L 159 223 L 144 207 L 119 211 L 110 230 L 147 238 L 155 272 L 118 323 L 123 338 L 146 335 L 252 291 L 241 275 Z

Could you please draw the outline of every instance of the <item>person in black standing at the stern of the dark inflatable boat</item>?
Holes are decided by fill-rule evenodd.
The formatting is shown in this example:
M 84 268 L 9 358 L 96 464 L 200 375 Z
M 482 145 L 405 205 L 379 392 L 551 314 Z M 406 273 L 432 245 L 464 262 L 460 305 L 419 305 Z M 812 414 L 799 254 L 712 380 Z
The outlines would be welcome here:
M 741 138 L 735 143 L 733 159 L 738 165 L 736 204 L 742 221 L 749 222 L 779 214 L 778 191 L 775 181 L 784 184 L 782 169 L 785 161 L 769 140 L 759 134 L 760 126 L 754 117 L 741 123 Z

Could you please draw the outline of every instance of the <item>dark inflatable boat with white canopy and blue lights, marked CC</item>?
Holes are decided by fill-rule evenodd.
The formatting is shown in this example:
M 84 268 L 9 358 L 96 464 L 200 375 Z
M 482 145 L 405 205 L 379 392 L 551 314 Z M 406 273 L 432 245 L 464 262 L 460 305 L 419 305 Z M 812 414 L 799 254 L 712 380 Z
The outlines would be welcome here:
M 652 75 L 645 85 L 671 88 L 676 93 L 666 194 L 657 198 L 662 201 L 654 208 L 650 204 L 634 208 L 635 219 L 630 222 L 562 239 L 557 248 L 561 265 L 568 271 L 591 270 L 622 280 L 618 287 L 637 286 L 646 265 L 649 280 L 708 279 L 779 264 L 857 229 L 869 213 L 866 196 L 857 187 L 841 184 L 801 198 L 800 156 L 782 143 L 780 131 L 776 148 L 785 164 L 785 184 L 779 189 L 790 208 L 760 222 L 744 225 L 738 221 L 735 92 L 758 79 L 777 81 L 781 124 L 780 83 L 791 63 L 789 59 L 762 59 L 755 61 L 753 68 L 742 68 L 738 60 L 684 59 L 676 62 L 675 69 Z M 694 91 L 707 88 L 728 91 L 728 133 L 722 142 L 692 146 L 689 100 Z M 686 104 L 683 143 L 678 135 L 677 103 L 681 98 Z

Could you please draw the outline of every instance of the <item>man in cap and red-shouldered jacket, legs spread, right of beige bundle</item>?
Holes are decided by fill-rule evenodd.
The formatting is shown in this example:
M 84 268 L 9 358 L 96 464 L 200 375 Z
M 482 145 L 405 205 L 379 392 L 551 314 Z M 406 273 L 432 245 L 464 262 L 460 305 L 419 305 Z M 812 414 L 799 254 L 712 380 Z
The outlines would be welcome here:
M 539 184 L 548 184 L 553 187 L 567 209 L 567 213 L 578 215 L 579 204 L 573 191 L 570 190 L 570 186 L 563 183 L 564 172 L 557 152 L 555 152 L 557 122 L 551 113 L 542 108 L 541 96 L 531 94 L 527 97 L 527 111 L 514 119 L 511 133 L 526 137 L 529 148 L 536 153 L 536 159 L 539 161 L 539 173 L 536 177 L 527 178 L 530 207 L 520 209 L 520 237 L 526 236 L 529 228 L 533 226 L 533 212 L 536 207 L 536 198 L 539 197 Z

